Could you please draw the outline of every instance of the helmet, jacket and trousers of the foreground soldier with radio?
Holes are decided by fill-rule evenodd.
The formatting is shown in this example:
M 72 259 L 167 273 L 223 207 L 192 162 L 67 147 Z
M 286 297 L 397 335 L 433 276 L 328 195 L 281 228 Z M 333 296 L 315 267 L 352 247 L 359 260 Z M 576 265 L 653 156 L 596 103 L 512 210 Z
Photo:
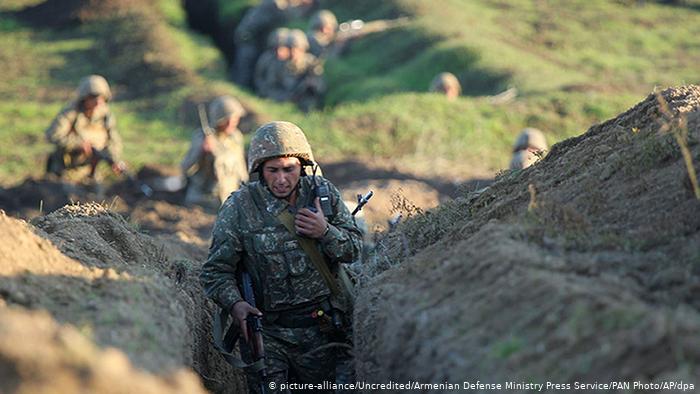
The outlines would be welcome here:
M 280 155 L 275 146 L 285 140 L 286 153 Z M 313 160 L 298 127 L 287 122 L 262 126 L 251 141 L 249 170 L 254 172 L 266 159 L 281 156 L 297 156 L 302 163 Z M 351 263 L 361 254 L 361 234 L 338 189 L 318 178 L 329 185 L 332 214 L 327 216 L 327 233 L 315 245 L 335 271 L 338 264 Z M 200 276 L 207 296 L 232 311 L 242 300 L 237 272 L 245 267 L 250 273 L 257 307 L 263 312 L 268 378 L 277 383 L 276 390 L 270 392 L 282 392 L 280 384 L 288 379 L 332 382 L 338 364 L 346 368 L 339 375 L 346 379 L 351 375 L 346 352 L 324 346 L 335 339 L 322 331 L 319 319 L 312 317 L 314 311 L 330 309 L 330 290 L 299 242 L 277 218 L 280 212 L 296 212 L 315 198 L 310 176 L 300 178 L 297 190 L 296 206 L 275 197 L 264 180 L 248 183 L 229 197 L 219 211 L 209 257 Z M 249 350 L 244 343 L 241 348 L 245 358 Z M 255 389 L 257 376 L 249 374 L 248 378 L 249 387 Z

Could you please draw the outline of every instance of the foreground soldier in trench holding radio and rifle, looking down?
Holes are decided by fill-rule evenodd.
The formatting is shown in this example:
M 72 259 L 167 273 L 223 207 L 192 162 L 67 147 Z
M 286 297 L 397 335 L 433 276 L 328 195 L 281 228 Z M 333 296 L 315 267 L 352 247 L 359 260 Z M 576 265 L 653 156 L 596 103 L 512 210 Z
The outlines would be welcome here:
M 262 318 L 268 392 L 282 383 L 347 383 L 349 312 L 336 280 L 340 264 L 357 260 L 362 235 L 338 189 L 309 172 L 314 157 L 296 125 L 271 122 L 250 143 L 248 169 L 259 181 L 232 194 L 219 210 L 209 257 L 200 279 L 206 295 L 233 316 L 238 327 Z M 320 196 L 320 197 L 319 197 Z M 249 275 L 256 307 L 239 290 Z M 246 299 L 243 297 L 246 296 Z M 242 332 L 241 354 L 254 353 L 250 333 Z M 259 331 L 258 334 L 259 335 Z M 248 342 L 250 341 L 250 342 Z M 249 371 L 251 390 L 261 377 Z

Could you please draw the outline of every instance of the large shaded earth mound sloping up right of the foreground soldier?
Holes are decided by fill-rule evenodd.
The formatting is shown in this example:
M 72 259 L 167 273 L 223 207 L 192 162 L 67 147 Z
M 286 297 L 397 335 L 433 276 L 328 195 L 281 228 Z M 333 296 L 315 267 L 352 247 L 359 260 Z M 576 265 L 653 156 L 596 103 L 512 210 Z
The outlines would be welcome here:
M 403 223 L 365 267 L 359 380 L 697 388 L 698 170 L 679 87 Z

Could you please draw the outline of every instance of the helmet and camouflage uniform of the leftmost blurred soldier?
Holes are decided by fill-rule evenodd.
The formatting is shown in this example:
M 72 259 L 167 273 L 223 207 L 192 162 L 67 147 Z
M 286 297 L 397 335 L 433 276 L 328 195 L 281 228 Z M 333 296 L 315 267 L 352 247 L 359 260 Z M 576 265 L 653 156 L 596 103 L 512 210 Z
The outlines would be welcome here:
M 107 81 L 99 75 L 90 75 L 81 80 L 77 100 L 66 106 L 46 129 L 46 139 L 56 145 L 49 156 L 46 172 L 62 176 L 66 170 L 75 177 L 84 177 L 90 172 L 94 157 L 83 153 L 82 144 L 87 141 L 94 150 L 105 151 L 116 162 L 122 150 L 121 137 L 116 130 L 114 117 L 107 104 L 95 108 L 91 117 L 83 112 L 83 102 L 88 96 L 102 96 L 105 101 L 112 98 Z

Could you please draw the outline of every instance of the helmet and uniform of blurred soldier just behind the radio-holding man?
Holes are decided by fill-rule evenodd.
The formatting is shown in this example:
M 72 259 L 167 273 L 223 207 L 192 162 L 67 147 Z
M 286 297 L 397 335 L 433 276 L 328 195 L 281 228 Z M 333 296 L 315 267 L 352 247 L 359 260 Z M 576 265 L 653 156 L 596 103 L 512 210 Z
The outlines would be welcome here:
M 218 206 L 241 182 L 248 181 L 243 134 L 216 131 L 217 125 L 230 116 L 243 116 L 245 110 L 232 97 L 219 97 L 209 106 L 210 130 L 216 143 L 211 152 L 204 152 L 205 133 L 200 127 L 192 136 L 190 149 L 182 160 L 182 172 L 188 175 L 186 204 Z M 215 203 L 212 201 L 216 196 Z

